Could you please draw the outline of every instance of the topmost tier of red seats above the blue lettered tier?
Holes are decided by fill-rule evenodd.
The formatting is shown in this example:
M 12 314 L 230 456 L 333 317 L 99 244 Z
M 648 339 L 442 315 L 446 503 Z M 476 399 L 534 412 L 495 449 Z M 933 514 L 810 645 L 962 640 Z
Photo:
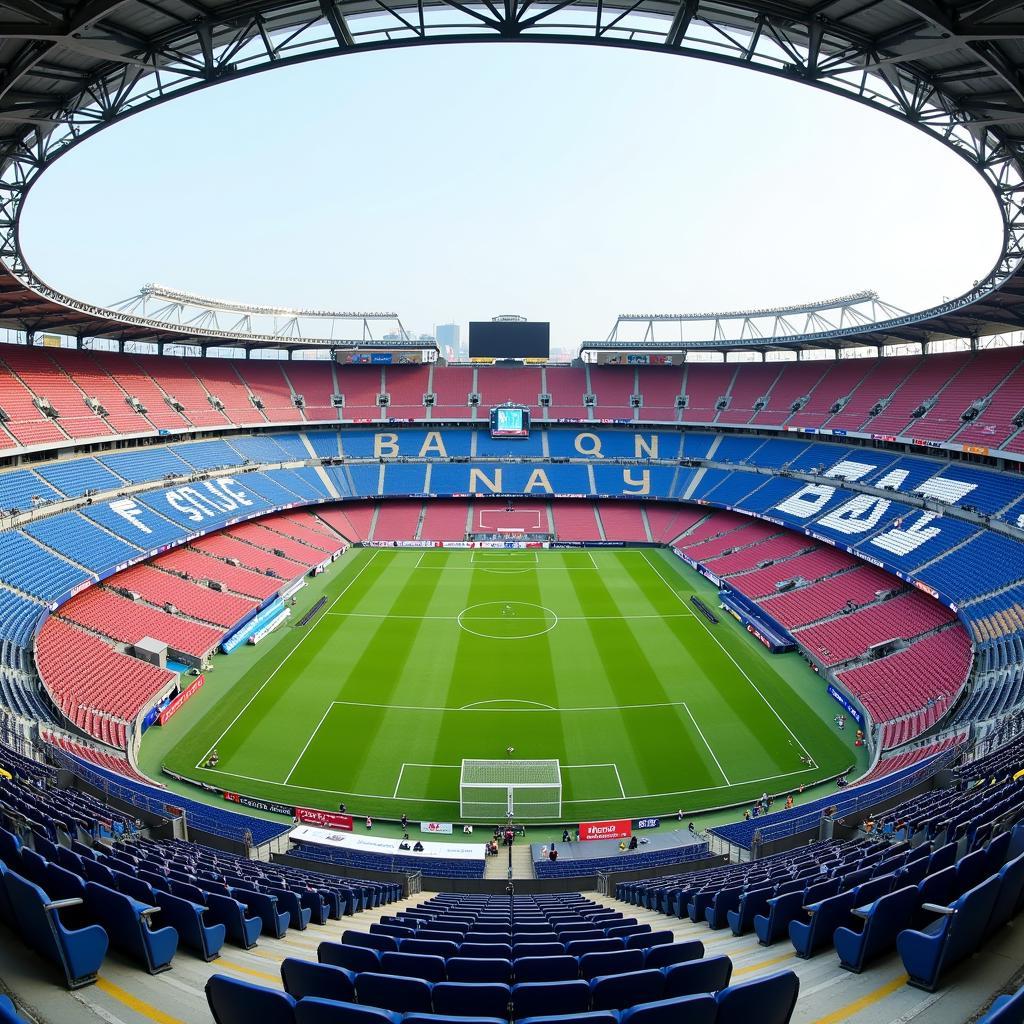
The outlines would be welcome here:
M 1024 451 L 1024 436 L 1011 422 L 1022 411 L 1015 382 L 1024 366 L 1016 348 L 923 359 L 512 370 L 341 367 L 328 359 L 174 359 L 8 345 L 0 351 L 5 364 L 0 366 L 0 408 L 8 416 L 0 428 L 0 449 L 228 423 L 426 419 L 423 397 L 431 392 L 436 403 L 429 418 L 467 420 L 480 418 L 468 404 L 475 387 L 480 409 L 517 401 L 528 406 L 537 420 L 590 419 L 583 403 L 589 389 L 596 395 L 596 419 L 827 426 Z M 539 403 L 542 387 L 551 395 L 547 410 Z M 339 393 L 343 410 L 332 402 Z M 377 402 L 381 393 L 390 396 L 384 410 Z M 296 406 L 297 395 L 302 395 L 302 409 Z M 632 408 L 633 395 L 640 396 L 638 410 Z M 681 413 L 676 409 L 680 395 L 687 402 Z M 33 397 L 48 400 L 56 417 L 44 415 Z M 129 398 L 144 412 L 132 408 Z M 102 415 L 86 399 L 96 399 Z M 983 408 L 973 422 L 964 419 L 979 406 Z

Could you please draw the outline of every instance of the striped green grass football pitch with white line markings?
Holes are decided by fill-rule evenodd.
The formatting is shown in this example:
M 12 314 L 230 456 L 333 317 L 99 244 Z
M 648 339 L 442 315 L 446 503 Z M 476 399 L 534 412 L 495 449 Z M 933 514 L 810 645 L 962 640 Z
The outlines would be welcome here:
M 218 656 L 143 765 L 156 751 L 285 804 L 459 820 L 462 759 L 511 745 L 558 759 L 573 821 L 721 807 L 856 760 L 822 681 L 699 617 L 690 596 L 715 591 L 662 550 L 353 550 L 323 592 L 310 626 Z

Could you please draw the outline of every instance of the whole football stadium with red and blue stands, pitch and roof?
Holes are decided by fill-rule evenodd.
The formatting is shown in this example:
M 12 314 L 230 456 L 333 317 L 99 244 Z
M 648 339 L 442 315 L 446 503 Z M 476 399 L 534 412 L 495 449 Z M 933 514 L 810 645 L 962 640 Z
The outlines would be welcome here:
M 1024 1022 L 1019 3 L 0 5 L 0 1022 Z M 568 355 L 30 265 L 129 117 L 486 42 L 902 122 L 997 258 Z

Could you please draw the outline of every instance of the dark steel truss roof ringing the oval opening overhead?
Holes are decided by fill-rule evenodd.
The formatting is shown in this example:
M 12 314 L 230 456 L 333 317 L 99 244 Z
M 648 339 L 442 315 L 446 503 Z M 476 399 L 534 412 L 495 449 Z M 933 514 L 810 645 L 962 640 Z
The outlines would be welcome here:
M 1002 253 L 969 294 L 850 329 L 843 343 L 1024 328 L 1020 0 L 0 3 L 0 258 L 7 265 L 0 316 L 20 328 L 225 344 L 209 332 L 169 330 L 75 302 L 33 273 L 18 240 L 25 196 L 54 159 L 92 132 L 174 95 L 267 68 L 364 49 L 485 40 L 627 46 L 749 67 L 849 96 L 928 132 L 992 188 L 1002 212 Z M 857 340 L 848 341 L 854 334 Z M 770 339 L 763 344 L 770 347 Z

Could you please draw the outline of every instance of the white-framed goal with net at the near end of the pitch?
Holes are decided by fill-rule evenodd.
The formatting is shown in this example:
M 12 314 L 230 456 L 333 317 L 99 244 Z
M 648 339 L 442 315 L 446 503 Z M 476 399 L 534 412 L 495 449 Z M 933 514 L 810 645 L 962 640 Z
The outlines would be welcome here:
M 562 773 L 558 761 L 473 761 L 464 759 L 459 778 L 463 821 L 501 821 L 509 815 L 559 818 Z

